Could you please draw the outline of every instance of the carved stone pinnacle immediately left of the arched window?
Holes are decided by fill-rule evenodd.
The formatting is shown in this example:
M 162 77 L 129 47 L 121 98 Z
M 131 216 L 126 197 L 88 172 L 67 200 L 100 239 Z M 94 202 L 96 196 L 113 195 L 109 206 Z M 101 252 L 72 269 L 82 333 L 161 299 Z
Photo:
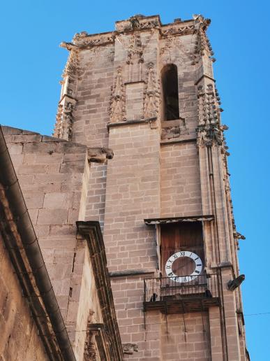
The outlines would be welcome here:
M 148 64 L 147 85 L 144 92 L 144 118 L 155 118 L 158 114 L 160 86 L 156 81 L 153 63 Z

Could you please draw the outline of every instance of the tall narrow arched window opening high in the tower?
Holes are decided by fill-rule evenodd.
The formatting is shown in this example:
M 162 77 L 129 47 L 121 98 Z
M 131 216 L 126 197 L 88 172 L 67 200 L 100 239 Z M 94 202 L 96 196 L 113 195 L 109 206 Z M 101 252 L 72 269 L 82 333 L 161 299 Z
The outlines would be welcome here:
M 163 120 L 179 119 L 177 66 L 167 64 L 161 73 L 163 90 Z

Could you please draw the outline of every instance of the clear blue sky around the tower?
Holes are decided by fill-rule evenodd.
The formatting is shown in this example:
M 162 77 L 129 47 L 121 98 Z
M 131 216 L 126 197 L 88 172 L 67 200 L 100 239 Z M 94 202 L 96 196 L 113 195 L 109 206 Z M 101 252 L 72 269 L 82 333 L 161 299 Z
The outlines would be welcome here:
M 68 52 L 59 48 L 76 32 L 114 29 L 136 13 L 160 14 L 163 23 L 210 17 L 214 73 L 230 127 L 227 143 L 234 216 L 240 241 L 243 306 L 251 360 L 270 360 L 269 276 L 269 2 L 4 1 L 1 4 L 1 120 L 4 125 L 51 134 L 61 72 Z M 248 316 L 254 313 L 264 315 Z

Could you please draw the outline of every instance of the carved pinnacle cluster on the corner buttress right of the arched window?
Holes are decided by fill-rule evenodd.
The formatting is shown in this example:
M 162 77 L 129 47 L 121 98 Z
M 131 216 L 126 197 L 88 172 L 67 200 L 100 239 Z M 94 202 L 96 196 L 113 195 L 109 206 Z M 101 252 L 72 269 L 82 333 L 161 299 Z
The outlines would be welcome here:
M 220 110 L 213 84 L 205 90 L 198 86 L 199 125 L 197 127 L 197 146 L 223 146 L 223 130 L 220 129 Z

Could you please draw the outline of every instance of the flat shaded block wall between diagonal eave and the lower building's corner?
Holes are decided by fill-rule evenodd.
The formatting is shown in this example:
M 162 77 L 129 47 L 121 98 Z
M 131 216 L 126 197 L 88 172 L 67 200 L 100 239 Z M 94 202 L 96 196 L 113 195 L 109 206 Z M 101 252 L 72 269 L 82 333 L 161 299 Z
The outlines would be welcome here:
M 86 147 L 21 129 L 3 127 L 3 132 L 66 320 L 77 243 L 75 222 L 83 207 Z

